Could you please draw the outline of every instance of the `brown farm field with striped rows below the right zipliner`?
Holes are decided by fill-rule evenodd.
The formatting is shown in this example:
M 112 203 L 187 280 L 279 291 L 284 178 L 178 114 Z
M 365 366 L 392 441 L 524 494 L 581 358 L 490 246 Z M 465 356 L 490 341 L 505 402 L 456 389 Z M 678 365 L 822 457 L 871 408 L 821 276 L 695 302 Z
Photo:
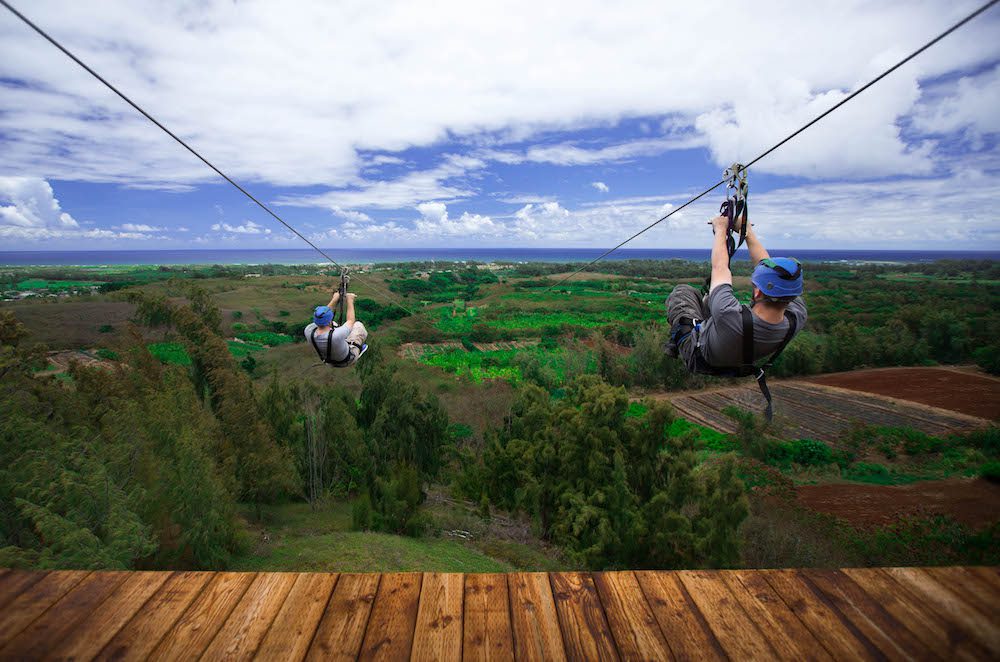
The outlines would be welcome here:
M 964 432 L 988 421 L 940 409 L 910 405 L 856 391 L 789 380 L 770 384 L 777 428 L 787 439 L 834 442 L 857 424 L 912 428 L 929 435 Z M 756 385 L 668 397 L 684 418 L 724 433 L 736 424 L 722 413 L 728 406 L 762 411 L 765 402 Z

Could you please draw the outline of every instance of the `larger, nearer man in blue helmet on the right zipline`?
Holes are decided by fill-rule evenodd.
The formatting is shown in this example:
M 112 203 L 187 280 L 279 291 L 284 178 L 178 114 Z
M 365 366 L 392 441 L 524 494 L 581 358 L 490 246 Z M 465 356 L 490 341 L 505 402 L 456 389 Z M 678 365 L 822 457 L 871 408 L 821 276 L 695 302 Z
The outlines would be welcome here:
M 729 220 L 712 220 L 712 277 L 708 296 L 690 285 L 678 285 L 667 299 L 667 320 L 671 343 L 667 351 L 678 354 L 692 372 L 722 372 L 745 366 L 743 356 L 743 306 L 733 295 L 733 275 L 729 271 L 726 230 Z M 790 321 L 795 333 L 806 324 L 802 300 L 802 268 L 793 258 L 774 258 L 760 243 L 753 227 L 747 228 L 747 248 L 753 271 L 753 360 L 759 360 L 785 344 Z M 791 338 L 788 338 L 791 340 Z

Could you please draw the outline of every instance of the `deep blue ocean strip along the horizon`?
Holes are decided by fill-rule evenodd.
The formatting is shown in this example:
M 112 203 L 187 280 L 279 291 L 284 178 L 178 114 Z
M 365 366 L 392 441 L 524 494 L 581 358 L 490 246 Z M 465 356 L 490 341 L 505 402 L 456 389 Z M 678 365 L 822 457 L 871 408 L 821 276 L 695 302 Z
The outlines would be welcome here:
M 379 262 L 587 262 L 602 248 L 411 248 L 324 249 L 341 264 Z M 919 263 L 935 260 L 998 260 L 1000 251 L 882 251 L 775 249 L 774 255 L 793 255 L 803 262 Z M 623 248 L 606 260 L 707 261 L 708 249 Z M 736 260 L 747 259 L 746 252 Z M 317 264 L 323 257 L 311 249 L 142 250 L 142 251 L 0 251 L 0 266 L 102 266 L 143 264 Z

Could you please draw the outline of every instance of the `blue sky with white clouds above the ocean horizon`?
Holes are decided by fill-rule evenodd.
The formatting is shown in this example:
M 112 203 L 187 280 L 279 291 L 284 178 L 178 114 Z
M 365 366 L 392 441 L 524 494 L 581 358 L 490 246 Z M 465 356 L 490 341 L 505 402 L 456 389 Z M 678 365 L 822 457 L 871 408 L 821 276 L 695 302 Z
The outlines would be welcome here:
M 977 6 L 672 4 L 21 9 L 320 245 L 392 248 L 614 245 Z M 755 167 L 762 238 L 1000 246 L 997 34 L 993 10 Z M 7 14 L 0 154 L 3 249 L 301 245 Z M 706 245 L 720 201 L 634 246 Z

